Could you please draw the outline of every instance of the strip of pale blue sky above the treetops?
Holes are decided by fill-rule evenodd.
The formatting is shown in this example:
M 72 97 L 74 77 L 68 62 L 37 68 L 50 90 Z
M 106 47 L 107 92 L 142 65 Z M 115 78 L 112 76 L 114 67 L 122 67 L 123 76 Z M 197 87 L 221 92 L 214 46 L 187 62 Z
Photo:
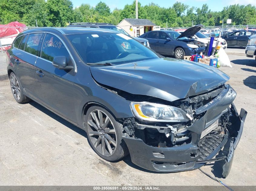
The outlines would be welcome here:
M 81 3 L 89 3 L 94 6 L 97 5 L 100 0 L 71 0 L 74 7 L 78 7 Z M 105 2 L 110 8 L 111 11 L 114 8 L 124 8 L 126 4 L 131 4 L 133 0 L 101 0 Z M 161 7 L 171 7 L 177 0 L 138 0 L 142 5 L 147 5 L 149 2 L 156 3 Z M 240 4 L 240 5 L 256 5 L 256 0 L 179 0 L 179 2 L 185 3 L 189 6 L 201 7 L 202 4 L 207 3 L 209 8 L 212 11 L 221 11 L 223 7 L 228 5 Z

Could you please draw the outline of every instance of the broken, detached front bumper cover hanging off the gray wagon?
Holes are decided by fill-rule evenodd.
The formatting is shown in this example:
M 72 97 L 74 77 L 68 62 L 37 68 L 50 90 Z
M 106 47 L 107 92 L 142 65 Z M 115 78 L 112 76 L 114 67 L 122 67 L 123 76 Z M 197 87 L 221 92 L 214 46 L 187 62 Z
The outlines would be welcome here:
M 224 134 L 208 134 L 202 142 L 201 133 L 193 133 L 191 143 L 173 147 L 153 147 L 145 144 L 139 138 L 123 136 L 129 148 L 131 161 L 139 167 L 157 172 L 179 172 L 194 170 L 204 166 L 208 162 L 225 160 L 223 165 L 223 177 L 227 177 L 231 169 L 234 151 L 241 138 L 244 121 L 247 112 L 241 109 L 240 115 L 234 104 L 231 103 L 232 132 Z M 191 129 L 202 129 L 205 118 L 202 117 Z M 230 128 L 230 127 L 229 127 Z M 200 141 L 198 141 L 200 140 Z M 221 151 L 226 152 L 221 157 L 214 158 Z

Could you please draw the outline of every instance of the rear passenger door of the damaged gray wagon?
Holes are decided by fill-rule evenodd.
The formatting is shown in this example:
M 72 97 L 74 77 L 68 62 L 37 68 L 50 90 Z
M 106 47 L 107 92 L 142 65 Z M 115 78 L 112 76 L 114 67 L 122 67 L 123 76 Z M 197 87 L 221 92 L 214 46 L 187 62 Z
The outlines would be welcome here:
M 35 62 L 43 33 L 31 33 L 23 37 L 19 49 L 14 51 L 14 65 L 25 92 L 34 97 Z

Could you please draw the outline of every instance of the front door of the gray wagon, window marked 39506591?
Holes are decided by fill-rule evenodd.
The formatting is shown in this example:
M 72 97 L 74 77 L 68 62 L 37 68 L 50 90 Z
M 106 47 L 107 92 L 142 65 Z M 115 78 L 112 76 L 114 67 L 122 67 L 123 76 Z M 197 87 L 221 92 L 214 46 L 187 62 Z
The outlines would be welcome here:
M 52 65 L 55 56 L 66 56 L 68 65 L 73 65 L 74 69 L 69 71 L 55 68 Z M 40 57 L 35 64 L 36 96 L 41 103 L 74 122 L 76 121 L 73 101 L 76 97 L 73 84 L 76 75 L 75 70 L 75 61 L 63 40 L 55 34 L 46 33 Z

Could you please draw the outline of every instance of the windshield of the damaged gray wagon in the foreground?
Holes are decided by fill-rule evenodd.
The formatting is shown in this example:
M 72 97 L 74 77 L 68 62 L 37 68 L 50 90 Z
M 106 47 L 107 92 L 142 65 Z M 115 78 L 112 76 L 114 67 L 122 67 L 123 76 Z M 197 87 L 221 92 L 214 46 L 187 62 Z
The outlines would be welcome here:
M 123 33 L 79 33 L 66 35 L 85 63 L 123 64 L 159 56 Z

